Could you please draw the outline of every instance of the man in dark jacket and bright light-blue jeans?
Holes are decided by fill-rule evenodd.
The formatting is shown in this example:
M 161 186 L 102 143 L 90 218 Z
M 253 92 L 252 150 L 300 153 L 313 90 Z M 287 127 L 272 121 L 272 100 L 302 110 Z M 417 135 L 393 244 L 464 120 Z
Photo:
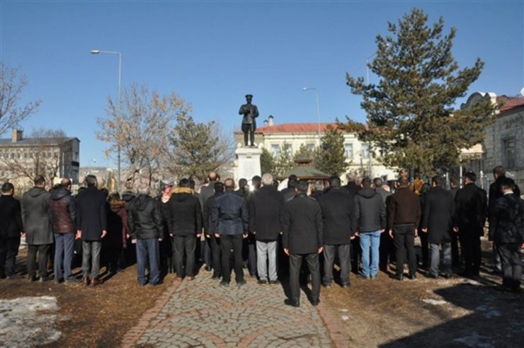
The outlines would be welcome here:
M 362 190 L 355 195 L 355 231 L 362 250 L 362 276 L 375 279 L 378 275 L 380 234 L 386 230 L 386 207 L 382 196 L 371 187 L 370 178 L 362 180 Z

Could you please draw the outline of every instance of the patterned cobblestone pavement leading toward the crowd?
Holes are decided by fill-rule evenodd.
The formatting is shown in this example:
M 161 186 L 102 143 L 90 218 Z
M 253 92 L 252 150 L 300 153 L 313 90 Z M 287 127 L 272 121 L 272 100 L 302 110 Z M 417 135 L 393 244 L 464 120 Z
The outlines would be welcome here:
M 169 276 L 166 280 L 169 281 Z M 234 279 L 234 277 L 232 277 Z M 192 282 L 173 281 L 167 296 L 142 317 L 124 346 L 333 347 L 324 322 L 302 292 L 300 308 L 285 306 L 281 284 L 256 279 L 228 288 L 209 272 Z M 322 303 L 321 303 L 322 305 Z M 140 330 L 142 329 L 142 330 Z M 137 337 L 133 337 L 134 335 Z

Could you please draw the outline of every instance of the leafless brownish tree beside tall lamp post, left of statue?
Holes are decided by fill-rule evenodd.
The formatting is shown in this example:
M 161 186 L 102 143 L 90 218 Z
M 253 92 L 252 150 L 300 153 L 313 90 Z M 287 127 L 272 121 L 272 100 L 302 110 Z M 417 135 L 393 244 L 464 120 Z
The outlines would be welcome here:
M 121 103 L 119 115 L 118 104 L 108 98 L 106 117 L 98 119 L 96 137 L 108 145 L 108 157 L 115 156 L 120 145 L 122 161 L 128 166 L 124 182 L 134 182 L 137 173 L 147 170 L 151 185 L 153 175 L 169 158 L 171 122 L 187 115 L 190 106 L 176 93 L 161 96 L 137 84 L 124 91 Z

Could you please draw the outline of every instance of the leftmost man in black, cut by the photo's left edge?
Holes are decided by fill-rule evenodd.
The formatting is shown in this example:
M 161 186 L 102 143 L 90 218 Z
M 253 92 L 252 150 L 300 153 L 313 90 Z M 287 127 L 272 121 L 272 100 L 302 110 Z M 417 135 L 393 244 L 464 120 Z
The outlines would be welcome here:
M 15 187 L 11 182 L 2 185 L 0 197 L 0 279 L 13 277 L 16 255 L 23 233 L 20 202 L 13 197 Z

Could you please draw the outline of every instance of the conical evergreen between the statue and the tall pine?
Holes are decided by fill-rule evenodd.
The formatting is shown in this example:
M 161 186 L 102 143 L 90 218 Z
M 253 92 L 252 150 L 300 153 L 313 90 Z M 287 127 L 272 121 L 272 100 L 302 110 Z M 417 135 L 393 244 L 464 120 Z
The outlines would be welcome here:
M 315 168 L 330 175 L 341 175 L 348 168 L 344 136 L 331 125 L 328 125 L 320 139 L 320 147 L 315 151 L 314 163 Z

